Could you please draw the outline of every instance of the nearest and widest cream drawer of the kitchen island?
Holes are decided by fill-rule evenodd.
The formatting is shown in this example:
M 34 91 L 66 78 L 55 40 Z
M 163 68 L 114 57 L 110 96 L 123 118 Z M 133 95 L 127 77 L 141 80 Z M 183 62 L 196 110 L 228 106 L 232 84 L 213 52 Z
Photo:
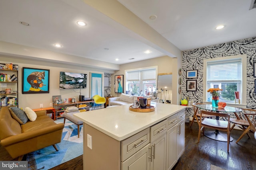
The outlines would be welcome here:
M 147 128 L 121 142 L 121 161 L 123 162 L 150 141 L 150 128 Z

